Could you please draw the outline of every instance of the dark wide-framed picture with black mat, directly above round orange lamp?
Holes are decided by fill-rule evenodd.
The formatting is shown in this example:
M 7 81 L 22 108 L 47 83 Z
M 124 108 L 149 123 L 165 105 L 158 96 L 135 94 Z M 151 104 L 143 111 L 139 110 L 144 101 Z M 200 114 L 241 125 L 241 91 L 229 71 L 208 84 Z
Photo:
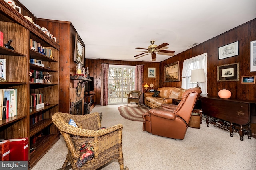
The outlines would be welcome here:
M 239 81 L 239 63 L 217 66 L 217 81 Z

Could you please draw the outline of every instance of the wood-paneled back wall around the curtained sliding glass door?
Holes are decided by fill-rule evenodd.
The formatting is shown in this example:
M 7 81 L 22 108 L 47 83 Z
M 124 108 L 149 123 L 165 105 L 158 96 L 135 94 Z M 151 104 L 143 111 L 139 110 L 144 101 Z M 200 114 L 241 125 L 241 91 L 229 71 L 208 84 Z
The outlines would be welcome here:
M 85 42 L 86 43 L 86 42 Z M 96 105 L 100 105 L 100 92 L 101 92 L 101 63 L 109 63 L 114 65 L 135 65 L 143 64 L 143 86 L 144 84 L 153 83 L 153 89 L 157 89 L 159 86 L 159 64 L 154 62 L 141 62 L 141 61 L 119 61 L 119 60 L 103 60 L 103 59 L 86 59 L 85 65 L 89 67 L 90 76 L 94 77 L 94 92 Z M 156 67 L 156 78 L 148 78 L 148 67 Z

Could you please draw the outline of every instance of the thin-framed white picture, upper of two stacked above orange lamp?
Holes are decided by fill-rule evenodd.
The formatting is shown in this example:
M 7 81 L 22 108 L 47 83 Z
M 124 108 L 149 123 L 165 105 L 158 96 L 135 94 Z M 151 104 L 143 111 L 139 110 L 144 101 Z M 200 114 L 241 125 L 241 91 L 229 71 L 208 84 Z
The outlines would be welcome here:
M 238 41 L 219 47 L 219 60 L 238 55 Z

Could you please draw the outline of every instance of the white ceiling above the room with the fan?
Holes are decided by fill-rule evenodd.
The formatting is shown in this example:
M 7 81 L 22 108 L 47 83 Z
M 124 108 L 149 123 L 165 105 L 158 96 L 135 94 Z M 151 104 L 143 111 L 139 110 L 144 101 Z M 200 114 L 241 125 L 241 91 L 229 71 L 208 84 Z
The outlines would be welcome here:
M 19 1 L 37 18 L 72 22 L 90 59 L 151 61 L 151 55 L 134 60 L 142 53 L 135 48 L 155 40 L 178 54 L 256 18 L 256 0 Z

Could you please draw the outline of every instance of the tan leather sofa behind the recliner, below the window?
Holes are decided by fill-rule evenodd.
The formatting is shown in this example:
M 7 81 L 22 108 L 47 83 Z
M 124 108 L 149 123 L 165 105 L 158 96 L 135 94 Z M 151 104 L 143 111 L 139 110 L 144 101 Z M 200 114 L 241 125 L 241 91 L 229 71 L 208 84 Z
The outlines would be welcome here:
M 157 91 L 160 93 L 157 97 L 153 97 L 154 93 L 144 93 L 144 103 L 150 108 L 161 107 L 163 103 L 172 104 L 173 98 L 182 98 L 182 94 L 185 92 L 183 88 L 177 87 L 161 87 Z

